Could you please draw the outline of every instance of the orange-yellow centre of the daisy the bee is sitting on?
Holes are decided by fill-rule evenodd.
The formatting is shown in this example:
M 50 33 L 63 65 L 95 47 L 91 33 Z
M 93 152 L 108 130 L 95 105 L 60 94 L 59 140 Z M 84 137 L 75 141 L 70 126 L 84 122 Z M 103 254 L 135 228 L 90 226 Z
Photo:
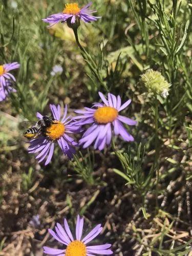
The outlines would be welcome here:
M 57 140 L 65 133 L 65 125 L 59 121 L 54 121 L 46 130 L 46 135 L 52 139 Z

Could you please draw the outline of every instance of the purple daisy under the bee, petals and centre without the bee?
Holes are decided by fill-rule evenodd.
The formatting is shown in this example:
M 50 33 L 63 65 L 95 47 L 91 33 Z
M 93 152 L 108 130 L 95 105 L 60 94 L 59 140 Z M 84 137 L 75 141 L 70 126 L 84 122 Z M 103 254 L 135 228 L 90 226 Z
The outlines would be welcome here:
M 47 137 L 40 135 L 38 138 L 32 139 L 30 141 L 30 146 L 28 147 L 29 153 L 38 152 L 36 159 L 39 159 L 39 163 L 47 157 L 45 165 L 51 161 L 55 142 L 59 144 L 62 152 L 71 159 L 75 153 L 74 146 L 77 145 L 77 142 L 68 134 L 74 134 L 79 131 L 79 127 L 74 125 L 71 117 L 67 117 L 67 105 L 62 118 L 60 105 L 56 108 L 55 105 L 50 104 L 50 109 L 53 114 L 54 121 L 46 130 Z M 37 117 L 42 119 L 43 116 L 37 112 Z

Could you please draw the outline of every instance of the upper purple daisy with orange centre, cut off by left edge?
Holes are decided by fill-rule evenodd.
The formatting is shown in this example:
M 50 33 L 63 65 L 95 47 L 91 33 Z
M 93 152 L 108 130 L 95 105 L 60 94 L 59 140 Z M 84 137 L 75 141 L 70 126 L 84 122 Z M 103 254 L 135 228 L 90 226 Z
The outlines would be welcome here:
M 18 62 L 8 63 L 0 66 L 0 86 L 5 87 L 6 81 L 12 79 L 14 82 L 15 77 L 9 73 L 10 70 L 18 69 L 20 64 Z

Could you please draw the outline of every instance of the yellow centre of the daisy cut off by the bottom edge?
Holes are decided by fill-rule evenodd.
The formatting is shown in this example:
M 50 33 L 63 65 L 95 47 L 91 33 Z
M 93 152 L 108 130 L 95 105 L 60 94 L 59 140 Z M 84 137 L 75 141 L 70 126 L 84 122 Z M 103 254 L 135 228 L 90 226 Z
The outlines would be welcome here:
M 75 240 L 71 242 L 66 249 L 66 256 L 86 256 L 87 249 L 81 241 Z

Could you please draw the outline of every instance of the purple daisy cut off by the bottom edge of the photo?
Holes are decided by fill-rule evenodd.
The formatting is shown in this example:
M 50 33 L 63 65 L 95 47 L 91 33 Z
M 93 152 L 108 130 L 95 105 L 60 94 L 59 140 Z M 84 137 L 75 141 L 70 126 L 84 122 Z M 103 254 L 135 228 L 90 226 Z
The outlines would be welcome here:
M 95 254 L 110 255 L 113 253 L 113 251 L 109 249 L 111 247 L 111 244 L 87 246 L 87 244 L 91 242 L 94 238 L 96 238 L 101 232 L 101 224 L 97 225 L 87 234 L 87 236 L 82 238 L 83 218 L 80 218 L 78 215 L 75 240 L 66 219 L 64 220 L 64 226 L 65 229 L 59 223 L 56 223 L 56 232 L 54 232 L 52 229 L 49 229 L 49 232 L 55 240 L 57 240 L 61 244 L 66 245 L 67 248 L 55 249 L 44 246 L 45 253 L 57 256 L 94 256 Z

